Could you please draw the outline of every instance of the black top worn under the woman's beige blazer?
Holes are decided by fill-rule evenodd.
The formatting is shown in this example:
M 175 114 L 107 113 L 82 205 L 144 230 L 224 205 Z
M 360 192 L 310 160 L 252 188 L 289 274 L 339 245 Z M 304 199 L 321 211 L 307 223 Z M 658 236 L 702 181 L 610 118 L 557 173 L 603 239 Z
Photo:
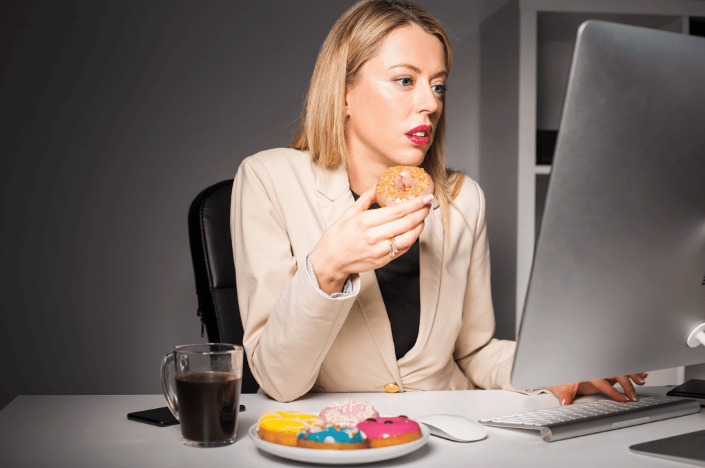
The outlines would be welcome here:
M 352 190 L 350 190 L 352 192 Z M 355 201 L 360 198 L 353 192 Z M 369 209 L 379 208 L 374 202 Z M 421 321 L 421 285 L 419 284 L 419 240 L 400 257 L 374 271 L 392 328 L 397 360 L 414 347 Z

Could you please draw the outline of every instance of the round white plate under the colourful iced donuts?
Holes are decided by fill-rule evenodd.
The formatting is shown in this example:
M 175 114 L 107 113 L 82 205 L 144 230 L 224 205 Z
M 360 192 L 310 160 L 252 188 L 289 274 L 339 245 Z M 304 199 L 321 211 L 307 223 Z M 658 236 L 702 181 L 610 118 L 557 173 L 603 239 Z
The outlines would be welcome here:
M 419 426 L 421 426 L 421 438 L 415 441 L 391 445 L 389 447 L 364 448 L 360 450 L 317 450 L 315 448 L 291 447 L 290 445 L 266 442 L 259 438 L 259 434 L 257 434 L 257 429 L 259 429 L 257 424 L 253 424 L 252 427 L 250 427 L 250 438 L 259 450 L 264 450 L 264 452 L 271 453 L 271 455 L 288 458 L 289 460 L 295 460 L 297 462 L 359 464 L 391 460 L 392 458 L 401 457 L 422 448 L 429 440 L 431 432 L 424 424 L 419 424 Z

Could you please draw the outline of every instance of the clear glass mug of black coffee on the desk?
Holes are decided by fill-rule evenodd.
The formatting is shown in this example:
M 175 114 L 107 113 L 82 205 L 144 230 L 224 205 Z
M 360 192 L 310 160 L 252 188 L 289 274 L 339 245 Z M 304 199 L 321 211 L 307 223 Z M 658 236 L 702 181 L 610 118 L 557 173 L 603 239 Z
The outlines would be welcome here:
M 242 346 L 182 345 L 161 360 L 161 389 L 192 447 L 235 442 L 242 383 Z

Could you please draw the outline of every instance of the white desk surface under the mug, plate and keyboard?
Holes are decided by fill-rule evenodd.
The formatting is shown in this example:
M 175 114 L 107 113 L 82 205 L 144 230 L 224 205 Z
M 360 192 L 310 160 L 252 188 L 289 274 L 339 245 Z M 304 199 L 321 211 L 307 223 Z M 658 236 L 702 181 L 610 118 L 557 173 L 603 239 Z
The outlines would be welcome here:
M 666 388 L 640 388 L 663 395 Z M 552 395 L 529 397 L 503 390 L 307 395 L 279 403 L 266 395 L 243 395 L 238 439 L 223 448 L 191 448 L 180 427 L 159 428 L 129 421 L 129 412 L 166 406 L 161 395 L 19 396 L 0 412 L 0 467 L 302 467 L 260 452 L 247 429 L 268 410 L 319 412 L 341 398 L 367 400 L 383 414 L 457 413 L 472 419 L 557 405 Z M 546 443 L 535 431 L 488 428 L 483 441 L 457 443 L 431 436 L 405 457 L 366 465 L 404 467 L 687 467 L 637 455 L 635 443 L 705 429 L 705 412 L 616 431 Z

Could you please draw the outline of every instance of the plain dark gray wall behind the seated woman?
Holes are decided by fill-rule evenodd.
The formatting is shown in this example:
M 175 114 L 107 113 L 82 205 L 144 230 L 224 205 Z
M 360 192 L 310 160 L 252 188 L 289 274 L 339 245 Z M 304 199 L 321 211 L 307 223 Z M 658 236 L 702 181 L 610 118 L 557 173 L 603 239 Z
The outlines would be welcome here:
M 317 51 L 352 2 L 0 6 L 0 356 L 17 394 L 159 393 L 199 343 L 186 214 L 247 155 L 286 146 Z M 449 165 L 477 178 L 482 15 L 448 26 Z

